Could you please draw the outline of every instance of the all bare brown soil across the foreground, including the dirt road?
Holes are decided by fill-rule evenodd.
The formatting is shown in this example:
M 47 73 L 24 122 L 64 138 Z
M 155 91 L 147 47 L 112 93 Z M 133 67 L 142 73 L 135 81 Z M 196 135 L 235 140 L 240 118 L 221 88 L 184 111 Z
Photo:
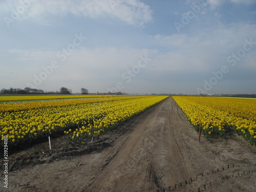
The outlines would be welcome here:
M 51 152 L 45 141 L 13 153 L 8 189 L 3 182 L 0 189 L 256 191 L 256 147 L 236 134 L 198 142 L 171 97 L 93 143 L 65 148 L 64 142 L 53 139 Z

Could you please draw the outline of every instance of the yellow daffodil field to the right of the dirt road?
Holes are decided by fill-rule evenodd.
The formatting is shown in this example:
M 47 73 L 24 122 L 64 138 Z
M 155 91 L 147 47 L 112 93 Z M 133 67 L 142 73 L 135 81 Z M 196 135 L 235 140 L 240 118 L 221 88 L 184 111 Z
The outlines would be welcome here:
M 195 130 L 225 138 L 230 132 L 256 145 L 256 99 L 173 96 Z

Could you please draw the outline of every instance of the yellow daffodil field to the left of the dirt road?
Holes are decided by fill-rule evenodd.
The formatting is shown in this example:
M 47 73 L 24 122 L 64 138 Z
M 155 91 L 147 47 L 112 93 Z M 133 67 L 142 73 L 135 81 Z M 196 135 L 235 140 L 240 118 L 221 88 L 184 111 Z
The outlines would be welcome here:
M 9 147 L 16 147 L 53 134 L 65 134 L 67 145 L 78 145 L 112 131 L 165 98 L 125 96 L 0 103 L 1 145 L 5 137 Z

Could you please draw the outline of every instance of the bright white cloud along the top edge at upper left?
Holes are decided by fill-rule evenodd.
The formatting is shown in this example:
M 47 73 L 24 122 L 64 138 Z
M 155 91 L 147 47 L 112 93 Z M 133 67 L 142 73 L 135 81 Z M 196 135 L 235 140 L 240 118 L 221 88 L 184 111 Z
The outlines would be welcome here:
M 5 1 L 2 10 L 7 11 L 23 6 L 22 1 Z M 113 3 L 115 4 L 113 5 Z M 118 3 L 120 2 L 120 3 Z M 72 14 L 74 16 L 83 17 L 104 17 L 106 15 L 114 18 L 118 18 L 122 22 L 125 22 L 134 26 L 144 26 L 146 23 L 152 21 L 152 10 L 149 6 L 140 2 L 139 0 L 37 0 L 26 4 L 25 12 L 20 14 L 20 18 L 33 18 L 35 20 L 42 21 L 47 15 L 63 16 Z

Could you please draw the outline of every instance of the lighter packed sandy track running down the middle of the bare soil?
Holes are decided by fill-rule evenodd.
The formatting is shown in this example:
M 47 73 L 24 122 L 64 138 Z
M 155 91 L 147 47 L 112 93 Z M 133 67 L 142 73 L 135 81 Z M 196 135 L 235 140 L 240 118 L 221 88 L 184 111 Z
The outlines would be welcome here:
M 171 129 L 177 123 L 177 108 L 167 99 L 137 124 L 88 191 L 155 191 L 185 180 L 181 160 Z M 176 111 L 175 111 L 176 110 Z

